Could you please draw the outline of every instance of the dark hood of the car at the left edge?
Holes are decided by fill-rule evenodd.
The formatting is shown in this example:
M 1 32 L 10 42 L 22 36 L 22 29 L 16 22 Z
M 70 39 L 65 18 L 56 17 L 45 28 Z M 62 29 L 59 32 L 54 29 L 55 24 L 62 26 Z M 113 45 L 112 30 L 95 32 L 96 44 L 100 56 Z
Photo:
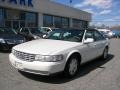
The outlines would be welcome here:
M 24 38 L 16 34 L 0 34 L 0 38 L 3 39 L 14 39 L 14 40 L 23 40 Z

